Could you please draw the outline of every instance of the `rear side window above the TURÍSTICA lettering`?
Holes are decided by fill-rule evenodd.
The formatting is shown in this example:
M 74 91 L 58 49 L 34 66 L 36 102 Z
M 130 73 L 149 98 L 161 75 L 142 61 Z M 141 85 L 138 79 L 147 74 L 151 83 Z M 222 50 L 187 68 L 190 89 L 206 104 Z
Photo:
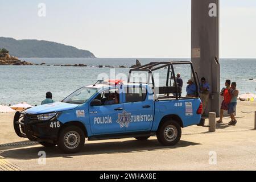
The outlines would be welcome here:
M 147 89 L 144 87 L 129 87 L 125 93 L 126 103 L 146 100 Z

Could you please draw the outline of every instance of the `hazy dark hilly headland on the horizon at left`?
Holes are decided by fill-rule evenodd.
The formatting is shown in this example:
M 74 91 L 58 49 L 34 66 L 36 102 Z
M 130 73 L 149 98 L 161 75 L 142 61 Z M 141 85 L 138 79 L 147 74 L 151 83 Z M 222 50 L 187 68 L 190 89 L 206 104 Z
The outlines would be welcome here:
M 81 57 L 96 58 L 92 52 L 45 40 L 15 40 L 0 37 L 0 48 L 15 57 Z

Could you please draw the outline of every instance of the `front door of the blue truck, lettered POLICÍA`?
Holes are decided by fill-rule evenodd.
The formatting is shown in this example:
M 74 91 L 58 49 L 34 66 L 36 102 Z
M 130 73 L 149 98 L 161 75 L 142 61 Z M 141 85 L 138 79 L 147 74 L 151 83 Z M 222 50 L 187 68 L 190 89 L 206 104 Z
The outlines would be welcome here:
M 93 135 L 124 133 L 125 128 L 119 125 L 118 117 L 123 112 L 122 94 L 118 89 L 108 89 L 94 99 L 101 100 L 101 106 L 89 106 L 90 128 Z M 112 94 L 112 97 L 109 97 Z M 115 102 L 113 94 L 118 101 Z

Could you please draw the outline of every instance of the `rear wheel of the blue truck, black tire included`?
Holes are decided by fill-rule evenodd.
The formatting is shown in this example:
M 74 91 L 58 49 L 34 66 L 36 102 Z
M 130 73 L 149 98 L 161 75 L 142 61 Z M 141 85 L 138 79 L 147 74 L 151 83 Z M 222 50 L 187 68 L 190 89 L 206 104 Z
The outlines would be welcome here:
M 164 121 L 156 132 L 156 137 L 164 146 L 174 146 L 181 138 L 181 127 L 176 121 Z

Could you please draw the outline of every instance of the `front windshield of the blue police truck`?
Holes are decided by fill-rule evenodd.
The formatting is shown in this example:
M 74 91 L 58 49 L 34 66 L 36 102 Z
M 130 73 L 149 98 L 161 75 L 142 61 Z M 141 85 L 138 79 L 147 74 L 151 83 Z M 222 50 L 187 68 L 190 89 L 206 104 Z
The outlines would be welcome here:
M 69 103 L 69 104 L 84 104 L 96 92 L 97 92 L 97 88 L 83 87 L 83 88 L 77 90 L 76 92 L 72 93 L 67 98 L 65 98 L 63 100 L 63 102 Z

